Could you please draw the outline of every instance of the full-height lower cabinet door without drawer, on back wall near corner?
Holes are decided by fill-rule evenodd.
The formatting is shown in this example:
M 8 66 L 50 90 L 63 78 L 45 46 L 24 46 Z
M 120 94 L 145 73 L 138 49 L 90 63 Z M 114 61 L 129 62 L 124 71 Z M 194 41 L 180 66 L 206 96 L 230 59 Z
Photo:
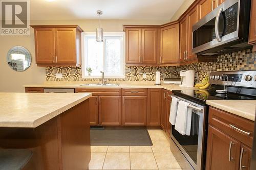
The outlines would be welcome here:
M 147 126 L 160 126 L 162 89 L 150 88 L 147 96 Z

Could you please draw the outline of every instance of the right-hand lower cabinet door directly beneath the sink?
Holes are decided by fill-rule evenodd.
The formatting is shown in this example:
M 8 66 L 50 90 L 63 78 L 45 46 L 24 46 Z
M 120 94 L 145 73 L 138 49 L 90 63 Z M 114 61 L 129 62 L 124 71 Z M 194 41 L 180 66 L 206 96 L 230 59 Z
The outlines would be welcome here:
M 99 96 L 99 124 L 121 125 L 121 96 Z

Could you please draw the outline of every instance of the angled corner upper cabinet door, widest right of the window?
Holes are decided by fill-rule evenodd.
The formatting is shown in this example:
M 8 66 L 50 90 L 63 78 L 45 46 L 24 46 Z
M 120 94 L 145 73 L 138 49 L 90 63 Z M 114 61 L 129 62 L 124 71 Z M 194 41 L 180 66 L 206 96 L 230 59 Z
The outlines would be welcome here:
M 179 62 L 179 23 L 161 28 L 160 61 Z

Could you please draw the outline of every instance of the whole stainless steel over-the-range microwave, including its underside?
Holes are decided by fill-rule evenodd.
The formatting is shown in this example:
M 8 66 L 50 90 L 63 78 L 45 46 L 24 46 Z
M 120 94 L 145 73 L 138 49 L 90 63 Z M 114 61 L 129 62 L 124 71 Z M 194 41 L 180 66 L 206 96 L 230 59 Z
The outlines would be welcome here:
M 193 26 L 192 52 L 203 56 L 250 48 L 250 0 L 226 0 Z

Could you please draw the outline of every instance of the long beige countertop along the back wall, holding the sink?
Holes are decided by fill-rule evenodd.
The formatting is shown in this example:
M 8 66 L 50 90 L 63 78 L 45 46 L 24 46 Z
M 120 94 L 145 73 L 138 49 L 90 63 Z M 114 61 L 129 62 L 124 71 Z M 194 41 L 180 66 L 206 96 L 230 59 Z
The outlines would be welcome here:
M 41 85 L 24 85 L 23 87 L 42 88 L 163 88 L 172 90 L 194 90 L 195 87 L 180 87 L 179 85 L 161 84 L 155 85 L 155 81 L 108 81 L 108 83 L 118 83 L 118 86 L 88 86 L 83 84 L 100 83 L 100 81 L 46 81 Z

